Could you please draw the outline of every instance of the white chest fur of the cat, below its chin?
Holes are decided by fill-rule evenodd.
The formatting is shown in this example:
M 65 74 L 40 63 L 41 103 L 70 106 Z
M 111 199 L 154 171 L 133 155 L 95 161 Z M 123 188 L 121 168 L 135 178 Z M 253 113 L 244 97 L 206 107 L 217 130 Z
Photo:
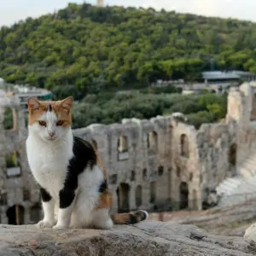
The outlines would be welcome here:
M 62 148 L 37 144 L 30 137 L 26 141 L 28 163 L 36 181 L 50 195 L 58 199 L 67 177 L 69 156 Z

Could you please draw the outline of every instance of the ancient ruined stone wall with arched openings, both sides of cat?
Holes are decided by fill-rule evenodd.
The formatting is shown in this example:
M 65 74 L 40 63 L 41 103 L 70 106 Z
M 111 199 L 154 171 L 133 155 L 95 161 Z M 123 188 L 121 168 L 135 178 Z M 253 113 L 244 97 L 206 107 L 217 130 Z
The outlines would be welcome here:
M 120 124 L 73 130 L 97 148 L 108 170 L 112 212 L 196 210 L 214 206 L 216 187 L 236 176 L 256 147 L 253 84 L 231 89 L 224 123 L 188 125 L 183 114 L 123 119 Z M 26 159 L 27 130 L 16 95 L 0 94 L 0 211 L 3 224 L 36 223 L 38 186 Z M 3 129 L 5 108 L 14 127 Z

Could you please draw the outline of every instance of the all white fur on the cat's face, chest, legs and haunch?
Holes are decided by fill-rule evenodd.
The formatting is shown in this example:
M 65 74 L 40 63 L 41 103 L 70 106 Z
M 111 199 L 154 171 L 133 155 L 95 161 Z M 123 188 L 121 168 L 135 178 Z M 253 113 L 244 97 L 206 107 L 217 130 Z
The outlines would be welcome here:
M 47 112 L 41 117 L 47 127 L 35 123 L 28 126 L 26 152 L 29 166 L 36 181 L 53 197 L 44 202 L 44 219 L 38 223 L 39 228 L 83 228 L 96 225 L 97 228 L 110 229 L 113 222 L 108 209 L 93 211 L 99 199 L 99 186 L 103 173 L 98 166 L 93 170 L 84 170 L 79 175 L 79 187 L 73 204 L 59 209 L 59 191 L 63 189 L 69 160 L 73 157 L 73 135 L 70 127 L 56 126 L 55 113 Z M 55 139 L 49 140 L 48 132 L 55 132 Z M 54 213 L 57 211 L 57 223 Z M 54 226 L 55 224 L 55 226 Z

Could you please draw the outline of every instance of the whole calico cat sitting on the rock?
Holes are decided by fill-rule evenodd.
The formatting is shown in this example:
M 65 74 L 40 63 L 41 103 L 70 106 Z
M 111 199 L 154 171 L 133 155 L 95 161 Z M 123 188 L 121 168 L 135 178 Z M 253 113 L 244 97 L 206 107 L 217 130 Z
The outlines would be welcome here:
M 108 173 L 96 148 L 73 136 L 72 106 L 73 96 L 61 101 L 27 100 L 26 154 L 44 210 L 38 228 L 108 230 L 113 224 L 147 219 L 148 212 L 143 210 L 109 214 Z

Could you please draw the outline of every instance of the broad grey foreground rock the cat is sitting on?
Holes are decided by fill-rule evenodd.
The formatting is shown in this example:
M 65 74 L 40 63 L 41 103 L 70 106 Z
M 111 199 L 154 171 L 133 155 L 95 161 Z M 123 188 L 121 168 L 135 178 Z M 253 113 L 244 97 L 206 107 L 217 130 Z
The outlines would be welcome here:
M 0 225 L 0 256 L 225 255 L 256 254 L 256 243 L 209 235 L 193 225 L 144 221 L 113 230 L 39 230 Z

